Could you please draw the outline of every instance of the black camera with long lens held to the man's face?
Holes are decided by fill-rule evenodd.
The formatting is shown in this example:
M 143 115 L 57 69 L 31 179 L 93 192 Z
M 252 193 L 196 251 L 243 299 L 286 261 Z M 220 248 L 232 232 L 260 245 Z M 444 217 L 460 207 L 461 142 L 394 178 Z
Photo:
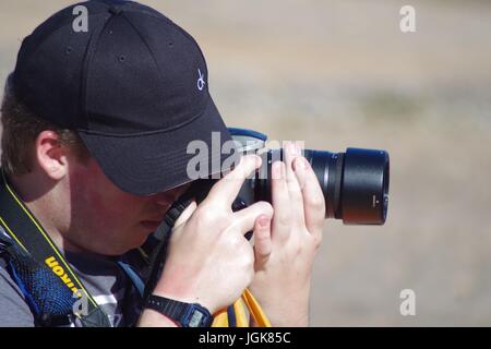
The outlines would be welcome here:
M 256 154 L 261 168 L 244 181 L 235 209 L 258 201 L 271 202 L 272 165 L 283 160 L 283 148 L 265 147 L 267 136 L 252 130 L 229 128 L 240 154 Z M 303 149 L 321 184 L 325 218 L 346 225 L 383 225 L 388 207 L 388 153 L 348 147 L 345 153 Z

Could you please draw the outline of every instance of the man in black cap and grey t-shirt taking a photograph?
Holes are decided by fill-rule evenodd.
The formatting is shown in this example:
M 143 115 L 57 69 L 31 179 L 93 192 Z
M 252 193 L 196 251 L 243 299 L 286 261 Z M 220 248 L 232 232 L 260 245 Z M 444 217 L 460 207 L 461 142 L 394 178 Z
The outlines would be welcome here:
M 21 218 L 29 221 L 33 236 L 41 238 L 24 250 L 33 255 L 41 255 L 45 245 L 52 250 L 41 263 L 68 288 L 91 296 L 113 326 L 193 325 L 160 305 L 194 304 L 207 318 L 247 287 L 274 326 L 308 325 L 325 208 L 315 174 L 295 143 L 285 161 L 273 166 L 272 205 L 231 210 L 243 180 L 261 165 L 259 157 L 244 156 L 202 203 L 185 208 L 153 296 L 139 302 L 134 272 L 142 276 L 147 266 L 134 252 L 192 181 L 188 144 L 212 146 L 213 132 L 220 145 L 230 136 L 189 34 L 135 2 L 81 4 L 87 32 L 73 29 L 76 5 L 56 13 L 23 40 L 5 85 L 3 245 L 22 252 L 16 230 L 23 230 Z M 208 174 L 221 170 L 208 165 Z M 251 230 L 254 248 L 244 238 Z M 38 325 L 39 299 L 48 298 L 33 300 L 36 286 L 29 282 L 37 280 L 26 282 L 19 272 L 31 263 L 16 257 L 21 252 L 0 256 L 2 326 Z M 72 325 L 81 323 L 75 318 Z

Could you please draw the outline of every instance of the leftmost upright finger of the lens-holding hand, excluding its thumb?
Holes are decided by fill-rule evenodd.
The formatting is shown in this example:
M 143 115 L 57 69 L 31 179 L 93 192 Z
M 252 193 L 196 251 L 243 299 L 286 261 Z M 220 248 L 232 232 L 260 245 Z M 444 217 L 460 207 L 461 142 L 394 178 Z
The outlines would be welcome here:
M 291 227 L 291 203 L 286 181 L 286 169 L 283 161 L 273 163 L 272 176 L 273 240 L 284 241 L 288 238 Z

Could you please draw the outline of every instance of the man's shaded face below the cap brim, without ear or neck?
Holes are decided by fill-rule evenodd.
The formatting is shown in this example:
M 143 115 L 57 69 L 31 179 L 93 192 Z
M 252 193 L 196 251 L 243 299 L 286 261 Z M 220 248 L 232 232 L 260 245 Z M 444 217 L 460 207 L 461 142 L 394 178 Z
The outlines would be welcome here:
M 187 189 L 152 196 L 121 191 L 94 159 L 70 168 L 70 243 L 82 250 L 117 255 L 140 246 L 161 222 L 172 202 Z

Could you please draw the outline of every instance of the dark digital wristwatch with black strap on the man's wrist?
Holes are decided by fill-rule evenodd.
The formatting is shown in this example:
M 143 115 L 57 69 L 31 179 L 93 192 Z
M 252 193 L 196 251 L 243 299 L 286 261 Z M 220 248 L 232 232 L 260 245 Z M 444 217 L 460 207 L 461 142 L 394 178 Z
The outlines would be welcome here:
M 166 315 L 182 327 L 209 327 L 213 322 L 209 311 L 197 303 L 184 303 L 151 294 L 145 301 L 145 308 Z

